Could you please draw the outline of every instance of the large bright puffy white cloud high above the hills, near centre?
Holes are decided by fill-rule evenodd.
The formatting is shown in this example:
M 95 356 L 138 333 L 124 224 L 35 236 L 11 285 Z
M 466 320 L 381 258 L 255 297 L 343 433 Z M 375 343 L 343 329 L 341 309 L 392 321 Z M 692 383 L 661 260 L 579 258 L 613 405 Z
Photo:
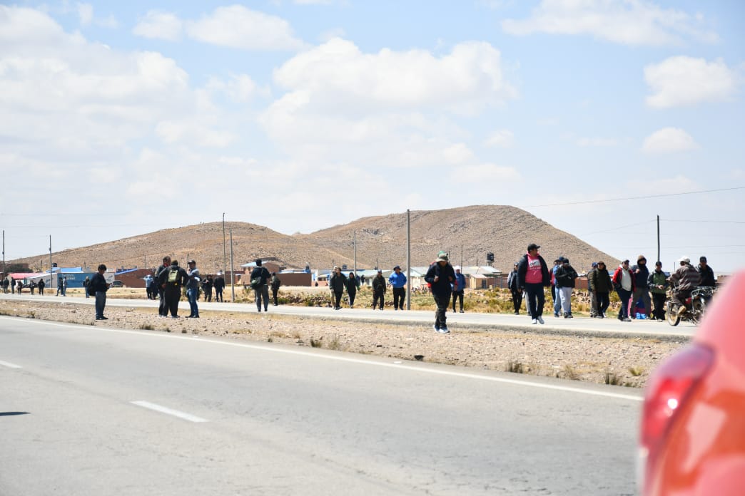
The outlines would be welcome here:
M 446 107 L 478 112 L 516 96 L 504 80 L 501 54 L 486 42 L 455 45 L 450 54 L 391 51 L 363 54 L 332 39 L 285 62 L 274 73 L 282 88 L 307 94 L 307 106 L 329 112 L 354 109 Z

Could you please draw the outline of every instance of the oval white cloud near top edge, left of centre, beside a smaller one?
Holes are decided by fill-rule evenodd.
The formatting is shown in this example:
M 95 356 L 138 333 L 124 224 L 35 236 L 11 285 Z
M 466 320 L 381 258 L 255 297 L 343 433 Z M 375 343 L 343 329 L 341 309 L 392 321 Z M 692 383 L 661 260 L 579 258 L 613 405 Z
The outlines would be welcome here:
M 186 22 L 191 38 L 241 50 L 299 50 L 303 42 L 290 24 L 242 5 L 218 7 L 198 21 Z

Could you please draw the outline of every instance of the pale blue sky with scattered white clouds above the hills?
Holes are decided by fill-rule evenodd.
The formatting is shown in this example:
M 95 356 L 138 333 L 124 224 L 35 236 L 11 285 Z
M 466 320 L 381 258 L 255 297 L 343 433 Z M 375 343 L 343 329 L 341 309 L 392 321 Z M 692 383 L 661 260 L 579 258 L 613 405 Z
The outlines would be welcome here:
M 0 2 L 5 258 L 511 204 L 619 258 L 659 215 L 666 268 L 733 271 L 744 5 Z

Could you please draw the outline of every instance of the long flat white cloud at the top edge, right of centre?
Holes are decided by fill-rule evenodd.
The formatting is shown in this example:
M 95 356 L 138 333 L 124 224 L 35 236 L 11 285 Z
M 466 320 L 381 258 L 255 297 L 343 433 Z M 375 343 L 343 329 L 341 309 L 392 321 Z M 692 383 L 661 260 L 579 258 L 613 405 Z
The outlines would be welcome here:
M 679 45 L 684 39 L 717 42 L 701 16 L 663 9 L 644 0 L 543 0 L 530 18 L 506 19 L 510 34 L 587 34 L 624 45 Z

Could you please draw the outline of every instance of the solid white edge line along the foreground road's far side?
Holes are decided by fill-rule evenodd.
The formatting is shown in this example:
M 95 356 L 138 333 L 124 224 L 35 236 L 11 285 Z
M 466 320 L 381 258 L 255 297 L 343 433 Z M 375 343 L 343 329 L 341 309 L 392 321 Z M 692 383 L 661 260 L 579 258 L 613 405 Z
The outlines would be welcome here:
M 0 317 L 0 318 L 6 318 L 6 317 Z M 8 318 L 10 319 L 10 318 Z M 25 323 L 39 323 L 39 321 L 28 321 L 27 319 L 13 319 L 13 321 L 16 322 L 25 322 Z M 83 324 L 79 324 L 77 326 L 71 325 L 71 324 L 65 324 L 65 323 L 54 323 L 54 322 L 44 322 L 45 325 L 49 326 L 58 326 L 58 327 L 67 327 L 70 329 L 83 329 L 83 330 L 89 330 L 91 329 L 90 326 L 85 326 Z M 153 332 L 143 332 L 143 331 L 133 331 L 133 330 L 127 330 L 127 329 L 112 329 L 111 327 L 95 327 L 94 328 L 96 332 L 121 332 L 124 334 L 136 334 L 136 335 L 142 335 L 142 336 L 148 336 L 150 338 L 164 338 L 164 339 L 188 339 L 191 341 L 194 341 L 192 338 L 188 336 L 179 336 L 179 335 L 172 335 L 172 334 L 155 334 Z M 269 352 L 276 352 L 276 353 L 286 353 L 289 355 L 301 355 L 301 356 L 307 356 L 312 358 L 326 358 L 328 360 L 335 360 L 335 361 L 346 361 L 352 364 L 365 364 L 365 365 L 375 365 L 377 367 L 396 367 L 398 369 L 404 369 L 404 370 L 413 370 L 415 372 L 419 373 L 430 373 L 430 374 L 436 374 L 438 376 L 451 376 L 451 377 L 461 377 L 464 379 L 477 379 L 479 381 L 491 381 L 491 382 L 502 382 L 504 384 L 517 384 L 519 386 L 526 386 L 526 387 L 539 387 L 542 389 L 548 389 L 548 390 L 554 390 L 554 391 L 567 391 L 569 393 L 580 393 L 580 394 L 588 394 L 590 396 L 603 396 L 606 398 L 615 398 L 615 399 L 628 399 L 634 402 L 641 402 L 644 401 L 644 398 L 640 395 L 634 396 L 630 394 L 621 394 L 621 393 L 610 393 L 609 391 L 599 391 L 599 390 L 592 390 L 592 389 L 582 389 L 580 387 L 568 387 L 568 386 L 559 386 L 557 384 L 546 384 L 542 382 L 537 381 L 530 381 L 530 379 L 507 379 L 504 377 L 495 377 L 495 376 L 485 376 L 481 374 L 474 374 L 474 373 L 464 373 L 464 372 L 453 372 L 451 370 L 439 370 L 439 369 L 433 369 L 428 367 L 422 367 L 417 366 L 413 367 L 410 365 L 399 365 L 399 364 L 391 364 L 387 362 L 378 362 L 378 361 L 369 361 L 369 360 L 363 360 L 361 358 L 348 358 L 346 356 L 336 356 L 336 355 L 323 355 L 320 353 L 314 353 L 314 352 L 307 352 L 307 351 L 300 351 L 300 350 L 285 350 L 282 348 L 275 348 L 275 347 L 264 347 L 259 346 L 256 344 L 244 344 L 244 343 L 231 343 L 226 341 L 215 341 L 209 338 L 202 338 L 199 340 L 200 343 L 205 344 L 218 344 L 221 346 L 230 346 L 230 347 L 239 347 L 239 348 L 248 348 L 249 350 L 261 350 L 261 351 L 269 351 Z

